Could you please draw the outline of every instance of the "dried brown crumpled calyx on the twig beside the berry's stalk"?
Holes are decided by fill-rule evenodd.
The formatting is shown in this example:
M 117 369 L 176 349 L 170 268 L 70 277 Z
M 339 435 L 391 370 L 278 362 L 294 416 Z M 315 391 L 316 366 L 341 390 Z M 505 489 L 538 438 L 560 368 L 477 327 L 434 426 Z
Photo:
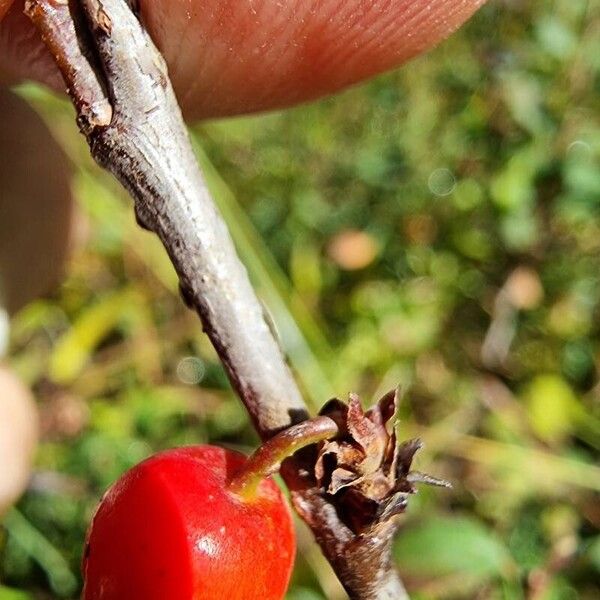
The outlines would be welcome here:
M 317 483 L 357 534 L 404 512 L 408 497 L 417 491 L 416 483 L 451 487 L 447 481 L 410 470 L 423 444 L 419 439 L 398 443 L 399 400 L 399 390 L 390 392 L 365 412 L 358 396 L 351 394 L 348 404 L 330 400 L 320 412 L 336 422 L 340 433 L 319 446 Z

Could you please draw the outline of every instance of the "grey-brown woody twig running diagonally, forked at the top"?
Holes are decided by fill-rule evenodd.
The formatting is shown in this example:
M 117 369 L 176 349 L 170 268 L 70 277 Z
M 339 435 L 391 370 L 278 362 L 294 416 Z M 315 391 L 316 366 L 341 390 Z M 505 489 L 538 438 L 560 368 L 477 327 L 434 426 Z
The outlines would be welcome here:
M 200 173 L 164 60 L 130 4 L 28 0 L 26 12 L 62 72 L 93 157 L 131 193 L 140 225 L 163 242 L 182 297 L 200 315 L 261 438 L 306 420 L 298 386 Z M 286 461 L 282 475 L 350 597 L 406 598 L 388 529 L 353 533 L 311 467 Z

